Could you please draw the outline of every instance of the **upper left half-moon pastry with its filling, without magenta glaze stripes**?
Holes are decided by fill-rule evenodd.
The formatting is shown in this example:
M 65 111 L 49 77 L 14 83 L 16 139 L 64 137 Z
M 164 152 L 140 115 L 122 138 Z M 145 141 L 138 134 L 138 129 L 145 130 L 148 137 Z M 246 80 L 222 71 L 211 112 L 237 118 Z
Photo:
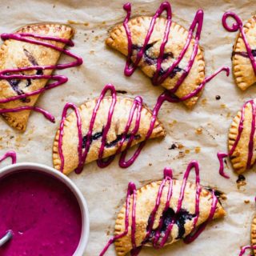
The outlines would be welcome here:
M 50 37 L 61 38 L 68 40 L 72 38 L 74 30 L 70 26 L 61 24 L 35 24 L 24 26 L 19 29 L 14 35 L 20 34 L 23 38 L 35 40 L 32 35 L 43 36 L 37 38 L 42 43 L 49 43 L 63 49 L 66 44 L 50 40 Z M 32 34 L 29 36 L 29 34 Z M 49 39 L 46 39 L 49 37 Z M 61 51 L 50 48 L 49 46 L 42 46 L 37 43 L 24 42 L 22 40 L 14 40 L 12 38 L 6 39 L 0 48 L 0 70 L 22 69 L 33 66 L 55 66 Z M 0 80 L 0 100 L 12 98 L 17 95 L 31 93 L 35 90 L 40 90 L 46 86 L 48 79 L 39 78 L 43 75 L 52 74 L 53 69 L 46 70 L 26 70 L 16 71 L 11 74 L 22 75 L 38 75 L 38 78 L 18 79 L 12 78 L 8 80 Z M 8 73 L 6 73 L 8 75 Z M 10 74 L 9 74 L 10 75 Z M 34 106 L 40 94 L 29 97 L 20 98 L 14 101 L 0 103 L 0 109 L 15 109 L 24 106 Z M 22 110 L 18 112 L 8 112 L 2 114 L 6 122 L 10 126 L 18 130 L 26 130 L 26 124 L 31 110 Z

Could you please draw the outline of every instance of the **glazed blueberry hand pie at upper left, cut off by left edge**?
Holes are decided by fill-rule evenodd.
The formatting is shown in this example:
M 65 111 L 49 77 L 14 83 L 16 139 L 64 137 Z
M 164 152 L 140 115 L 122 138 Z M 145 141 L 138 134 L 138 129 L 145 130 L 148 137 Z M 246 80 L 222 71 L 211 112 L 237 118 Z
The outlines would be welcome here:
M 73 34 L 70 26 L 38 24 L 1 35 L 5 42 L 0 49 L 0 113 L 10 126 L 26 130 L 30 111 L 38 110 L 34 105 L 39 95 L 66 82 L 64 76 L 51 75 L 54 69 L 81 64 L 79 59 L 79 63 L 57 65 L 62 52 L 77 58 L 64 50 L 67 44 L 73 46 Z M 57 81 L 46 85 L 49 79 Z

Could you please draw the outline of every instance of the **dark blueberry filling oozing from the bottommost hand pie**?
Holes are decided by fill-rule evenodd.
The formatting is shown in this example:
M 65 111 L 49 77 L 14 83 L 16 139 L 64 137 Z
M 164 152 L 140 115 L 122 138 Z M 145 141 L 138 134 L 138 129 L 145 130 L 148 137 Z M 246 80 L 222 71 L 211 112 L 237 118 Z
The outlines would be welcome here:
M 178 226 L 178 236 L 175 239 L 181 239 L 181 238 L 183 238 L 185 231 L 186 231 L 185 230 L 186 222 L 191 221 L 192 218 L 194 218 L 195 216 L 196 216 L 196 214 L 190 214 L 185 209 L 181 209 L 178 213 L 175 213 L 172 208 L 169 208 L 162 214 L 163 223 L 162 223 L 161 227 L 158 227 L 158 229 L 160 228 L 160 232 L 163 236 L 166 233 L 166 230 L 167 230 L 168 226 L 170 226 L 171 222 L 174 222 L 174 224 L 176 224 Z M 150 219 L 151 219 L 151 216 L 148 221 L 148 226 L 150 224 Z M 147 227 L 147 230 L 148 230 L 148 227 Z M 156 231 L 157 230 L 151 230 L 150 238 L 148 239 L 149 241 L 151 241 L 152 238 L 154 238 Z

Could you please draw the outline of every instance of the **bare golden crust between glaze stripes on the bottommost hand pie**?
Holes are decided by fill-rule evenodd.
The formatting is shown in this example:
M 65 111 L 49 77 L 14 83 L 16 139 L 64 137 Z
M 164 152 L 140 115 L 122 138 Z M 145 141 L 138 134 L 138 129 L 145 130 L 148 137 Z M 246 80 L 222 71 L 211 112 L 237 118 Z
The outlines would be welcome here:
M 136 233 L 135 233 L 137 246 L 141 245 L 143 239 L 146 237 L 146 226 L 148 225 L 150 214 L 154 209 L 160 184 L 161 184 L 161 181 L 152 182 L 146 186 L 142 186 L 142 188 L 137 190 Z M 181 186 L 182 186 L 182 181 L 174 180 L 173 196 L 170 199 L 170 208 L 172 208 L 173 210 L 177 209 Z M 162 211 L 166 206 L 167 191 L 168 191 L 168 186 L 165 186 L 162 193 L 162 199 L 159 206 L 159 210 L 155 218 L 154 227 L 153 227 L 154 229 L 158 227 Z M 187 210 L 191 214 L 195 213 L 195 194 L 196 194 L 195 184 L 191 182 L 187 182 L 185 196 L 182 202 L 182 208 Z M 199 214 L 197 226 L 199 226 L 203 222 L 206 222 L 210 214 L 211 203 L 212 203 L 211 192 L 202 188 L 202 192 L 200 194 L 200 214 Z M 130 204 L 132 205 L 132 199 L 130 201 Z M 131 210 L 132 210 L 132 207 L 130 207 L 129 223 L 131 223 L 131 215 L 132 215 Z M 118 218 L 115 224 L 115 235 L 122 234 L 125 230 L 125 214 L 126 214 L 126 205 L 122 206 L 122 210 L 120 210 L 118 214 Z M 218 202 L 218 205 L 214 214 L 214 218 L 222 218 L 225 216 L 225 214 L 226 214 L 225 210 L 222 208 L 221 204 Z M 194 218 L 186 221 L 186 224 L 184 226 L 186 230 L 184 237 L 190 234 L 190 232 L 193 230 L 193 222 L 194 222 Z M 118 256 L 124 256 L 132 249 L 130 228 L 128 230 L 129 232 L 126 236 L 118 239 L 115 242 L 115 249 Z M 175 239 L 177 237 L 178 237 L 178 226 L 174 224 L 174 228 L 171 231 L 170 237 L 168 238 L 166 245 L 170 245 L 174 242 L 177 242 L 179 240 L 179 239 Z M 150 242 L 148 242 L 145 246 L 152 246 L 152 245 Z

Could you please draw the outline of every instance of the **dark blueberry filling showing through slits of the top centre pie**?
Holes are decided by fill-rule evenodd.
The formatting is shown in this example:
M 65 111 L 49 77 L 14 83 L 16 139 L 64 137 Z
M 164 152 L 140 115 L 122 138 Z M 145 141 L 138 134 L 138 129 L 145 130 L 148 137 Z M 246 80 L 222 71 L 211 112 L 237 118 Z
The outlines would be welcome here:
M 155 43 L 156 43 L 156 42 L 152 42 L 152 43 L 148 44 L 148 45 L 146 46 L 146 50 L 145 50 L 145 53 L 144 53 L 144 55 L 143 55 L 143 60 L 144 60 L 144 61 L 146 62 L 146 64 L 148 64 L 148 65 L 157 65 L 157 62 L 158 62 L 158 58 L 153 58 L 153 57 L 151 57 L 151 56 L 147 53 L 147 51 L 150 50 L 150 48 L 153 47 Z M 136 50 L 136 51 L 138 52 L 139 50 L 142 49 L 142 46 L 133 45 L 133 46 L 132 46 L 132 49 L 133 49 L 133 50 Z M 167 61 L 169 58 L 174 58 L 174 54 L 173 54 L 172 52 L 165 53 L 165 54 L 163 55 L 163 57 L 162 57 L 163 62 Z M 172 72 L 171 72 L 170 75 L 169 75 L 170 78 L 174 78 L 174 76 L 175 76 L 178 72 L 181 72 L 181 71 L 184 71 L 184 70 L 182 70 L 182 68 L 180 68 L 179 66 L 175 66 L 175 67 L 174 67 L 174 70 L 172 70 Z M 162 76 L 162 75 L 166 74 L 166 72 L 167 72 L 167 70 L 164 70 L 164 69 L 161 68 L 161 70 L 159 71 L 159 75 Z

